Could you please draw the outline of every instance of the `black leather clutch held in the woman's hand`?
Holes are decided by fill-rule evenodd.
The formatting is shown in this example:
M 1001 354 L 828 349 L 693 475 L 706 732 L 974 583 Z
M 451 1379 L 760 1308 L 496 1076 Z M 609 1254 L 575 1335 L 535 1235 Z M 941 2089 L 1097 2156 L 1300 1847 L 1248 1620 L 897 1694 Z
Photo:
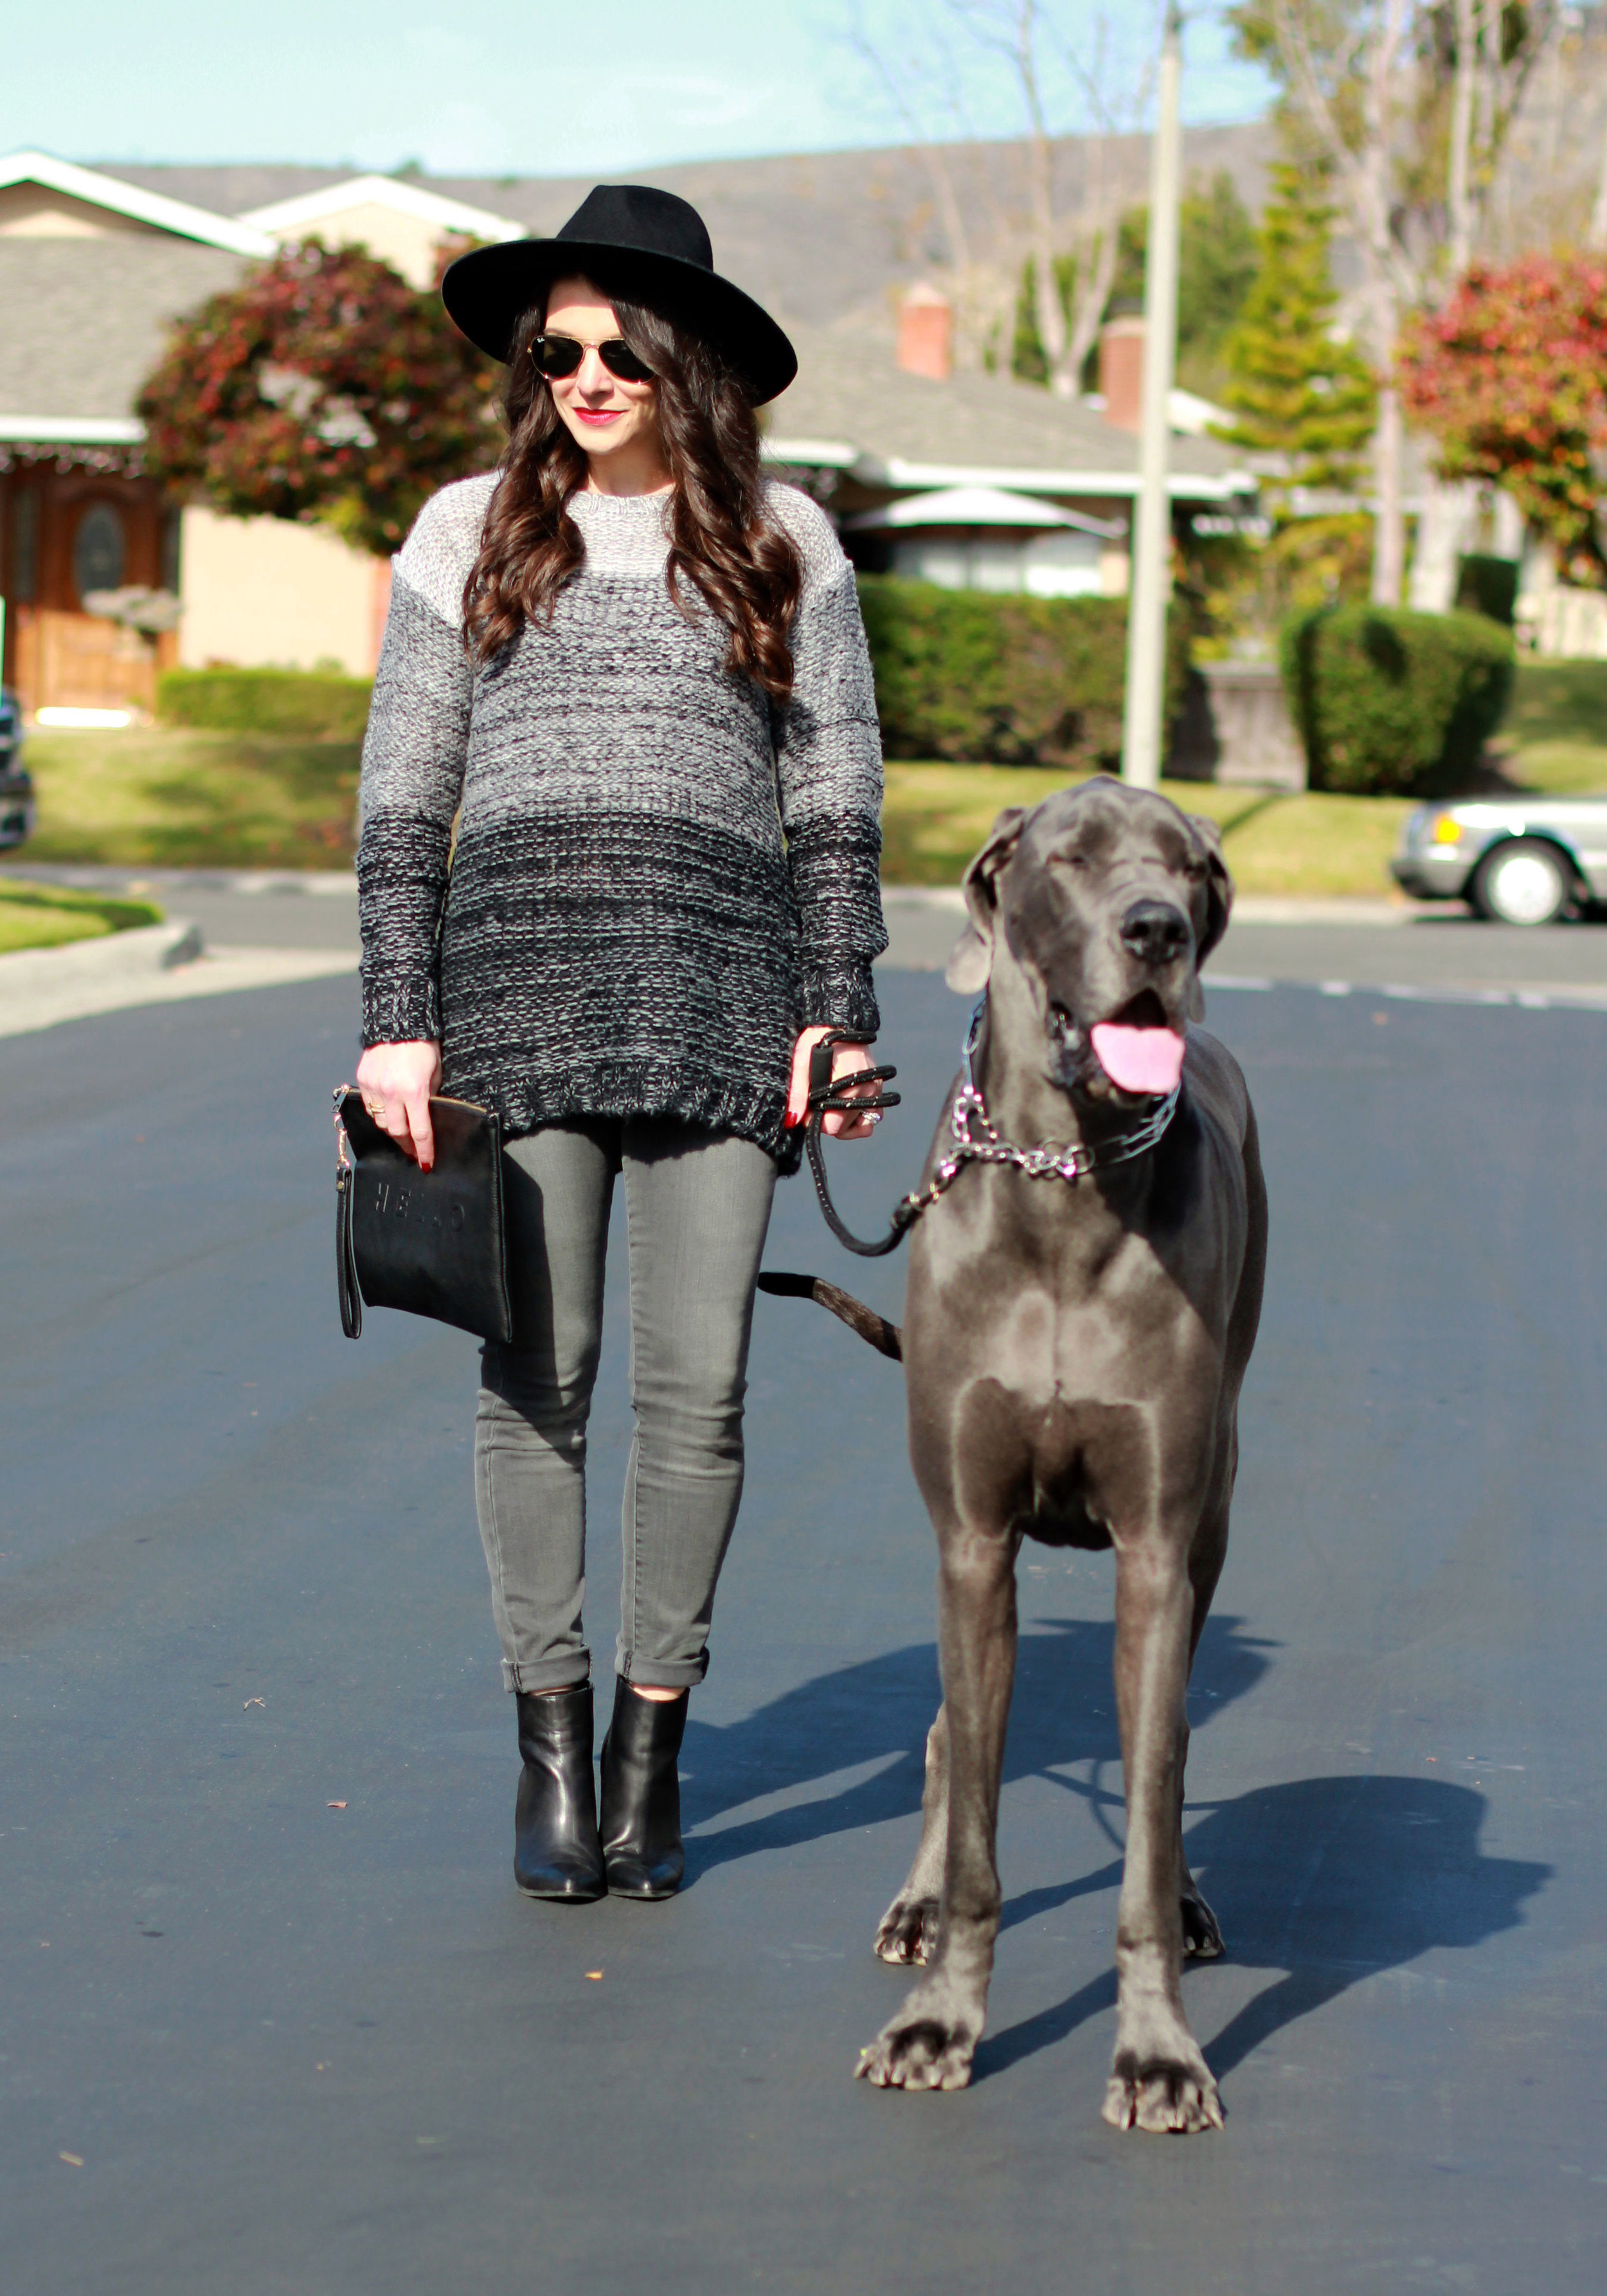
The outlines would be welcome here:
M 335 1091 L 340 1327 L 358 1339 L 367 1300 L 510 1341 L 500 1118 L 468 1100 L 432 1100 L 429 1123 L 436 1162 L 420 1171 L 360 1093 Z

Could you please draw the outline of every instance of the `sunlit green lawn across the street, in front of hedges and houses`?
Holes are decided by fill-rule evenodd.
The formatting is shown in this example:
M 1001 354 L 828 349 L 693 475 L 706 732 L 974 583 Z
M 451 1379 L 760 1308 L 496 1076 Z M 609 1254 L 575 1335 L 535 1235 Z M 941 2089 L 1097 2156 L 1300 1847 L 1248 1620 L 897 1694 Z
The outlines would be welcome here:
M 1531 790 L 1607 790 L 1607 661 L 1531 661 L 1497 751 Z M 271 735 L 32 732 L 37 861 L 129 868 L 342 868 L 351 859 L 358 744 Z M 891 884 L 957 884 L 1003 806 L 1063 785 L 1033 767 L 888 765 Z M 1244 893 L 1382 895 L 1400 797 L 1270 797 L 1166 783 L 1185 810 L 1221 822 Z

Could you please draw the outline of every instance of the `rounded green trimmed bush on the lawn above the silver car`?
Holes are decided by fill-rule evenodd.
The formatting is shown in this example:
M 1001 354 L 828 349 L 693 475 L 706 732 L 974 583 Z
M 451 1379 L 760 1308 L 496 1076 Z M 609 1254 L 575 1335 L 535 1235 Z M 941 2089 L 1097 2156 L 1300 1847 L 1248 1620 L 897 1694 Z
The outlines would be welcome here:
M 1483 613 L 1336 606 L 1292 615 L 1279 661 L 1313 790 L 1433 797 L 1467 781 L 1513 691 L 1511 629 Z

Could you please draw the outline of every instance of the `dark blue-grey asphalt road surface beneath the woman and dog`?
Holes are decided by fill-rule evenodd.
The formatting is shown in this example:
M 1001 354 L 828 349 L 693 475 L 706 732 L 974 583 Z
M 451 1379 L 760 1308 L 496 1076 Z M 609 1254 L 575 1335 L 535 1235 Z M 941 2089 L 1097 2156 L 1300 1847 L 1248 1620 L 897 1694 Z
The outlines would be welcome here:
M 962 1008 L 884 976 L 907 1182 Z M 978 2078 L 849 2078 L 916 1835 L 932 1541 L 895 1366 L 762 1300 L 689 1887 L 542 1908 L 473 1345 L 340 1339 L 328 980 L 18 1038 L 0 1097 L 7 2296 L 1596 2291 L 1607 2266 L 1607 1017 L 1226 992 L 1272 1182 L 1189 1855 L 1224 2135 L 1116 2135 L 1104 1557 L 1026 1550 Z M 769 1265 L 898 1306 L 808 1182 Z M 618 1598 L 620 1256 L 592 1639 Z

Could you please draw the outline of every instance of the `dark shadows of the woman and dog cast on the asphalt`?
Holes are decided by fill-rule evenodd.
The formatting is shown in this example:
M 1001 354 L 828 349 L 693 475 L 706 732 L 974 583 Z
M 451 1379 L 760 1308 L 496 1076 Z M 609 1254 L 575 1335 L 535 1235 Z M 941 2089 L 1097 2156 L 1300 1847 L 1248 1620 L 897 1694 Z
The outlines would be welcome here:
M 1208 1621 L 1189 1683 L 1196 1733 L 1263 1678 L 1270 1653 L 1272 1644 L 1247 1635 L 1240 1619 Z M 799 1683 L 742 1722 L 689 1720 L 689 1885 L 732 1860 L 886 1818 L 914 1821 L 937 1699 L 937 1653 L 923 1642 Z M 1006 1931 L 1120 1883 L 1113 1706 L 1111 1621 L 1031 1621 L 1017 1653 L 1006 1786 L 1042 1777 L 1086 1802 L 1111 1857 L 1012 1896 Z M 758 1807 L 742 1816 L 748 1805 Z M 1483 1857 L 1483 1795 L 1469 1786 L 1389 1775 L 1306 1777 L 1198 1807 L 1187 1853 L 1221 1917 L 1228 1958 L 1283 1972 L 1210 2046 L 1212 2071 L 1231 2073 L 1274 2032 L 1364 1977 L 1515 1929 L 1552 1867 Z M 911 1823 L 909 1855 L 914 1839 Z M 1068 2000 L 989 2034 L 976 2078 L 1063 2041 L 1113 2002 L 1116 1972 L 1104 1968 Z

